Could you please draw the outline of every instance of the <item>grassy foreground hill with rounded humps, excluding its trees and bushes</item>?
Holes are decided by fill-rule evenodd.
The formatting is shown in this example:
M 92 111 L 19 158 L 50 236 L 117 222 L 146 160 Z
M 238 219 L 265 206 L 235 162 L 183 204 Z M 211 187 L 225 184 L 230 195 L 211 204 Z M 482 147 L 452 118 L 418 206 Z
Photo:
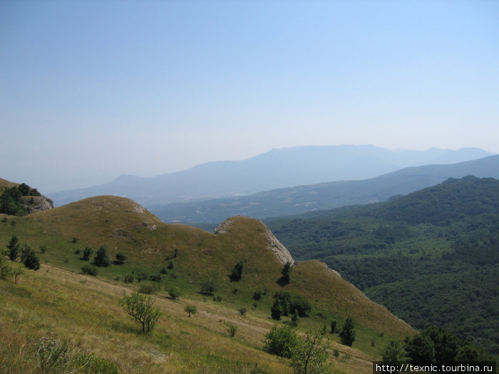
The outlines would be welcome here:
M 273 296 L 282 290 L 312 303 L 299 331 L 331 320 L 342 326 L 347 316 L 354 318 L 353 348 L 328 334 L 339 350 L 331 360 L 344 373 L 371 372 L 379 348 L 415 333 L 319 261 L 299 262 L 290 283 L 281 286 L 282 261 L 262 222 L 233 217 L 223 228 L 211 234 L 163 224 L 132 200 L 110 196 L 25 217 L 0 215 L 0 243 L 6 246 L 15 234 L 42 263 L 38 271 L 26 270 L 18 284 L 0 280 L 0 319 L 6 321 L 0 329 L 2 367 L 8 373 L 38 373 L 36 344 L 51 337 L 67 343 L 71 357 L 93 353 L 123 373 L 290 373 L 287 359 L 262 351 L 264 333 L 276 323 L 269 313 Z M 103 244 L 111 261 L 118 252 L 125 254 L 124 263 L 98 267 L 96 277 L 81 274 L 90 262 L 82 259 L 83 251 L 91 247 L 95 254 Z M 242 279 L 230 281 L 239 261 L 244 261 Z M 213 295 L 200 292 L 205 280 L 215 284 Z M 180 299 L 168 296 L 171 286 L 181 291 Z M 150 334 L 139 333 L 118 306 L 123 291 L 140 287 L 155 290 L 163 312 Z M 255 291 L 262 292 L 258 301 L 252 298 Z M 197 306 L 195 316 L 187 317 L 186 303 Z M 247 309 L 244 316 L 240 308 Z M 223 321 L 239 326 L 235 338 Z M 289 317 L 278 323 L 286 321 Z

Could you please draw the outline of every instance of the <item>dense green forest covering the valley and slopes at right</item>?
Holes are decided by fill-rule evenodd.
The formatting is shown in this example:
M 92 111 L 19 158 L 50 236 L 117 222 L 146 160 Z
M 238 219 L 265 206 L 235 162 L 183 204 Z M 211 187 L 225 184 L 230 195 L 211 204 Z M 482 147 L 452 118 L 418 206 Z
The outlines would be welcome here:
M 412 326 L 498 355 L 498 197 L 498 180 L 469 176 L 267 224 L 295 259 L 326 262 Z

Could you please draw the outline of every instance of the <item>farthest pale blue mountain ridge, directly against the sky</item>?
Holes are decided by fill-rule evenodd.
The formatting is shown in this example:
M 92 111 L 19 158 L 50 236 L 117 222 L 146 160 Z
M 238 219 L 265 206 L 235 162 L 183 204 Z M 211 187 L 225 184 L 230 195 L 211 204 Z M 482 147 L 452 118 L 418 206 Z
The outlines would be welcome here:
M 50 194 L 57 206 L 86 197 L 113 194 L 147 207 L 192 199 L 252 194 L 335 180 L 364 180 L 408 166 L 456 163 L 492 153 L 461 150 L 387 150 L 373 145 L 290 147 L 239 161 L 217 161 L 156 177 L 122 175 L 105 185 Z

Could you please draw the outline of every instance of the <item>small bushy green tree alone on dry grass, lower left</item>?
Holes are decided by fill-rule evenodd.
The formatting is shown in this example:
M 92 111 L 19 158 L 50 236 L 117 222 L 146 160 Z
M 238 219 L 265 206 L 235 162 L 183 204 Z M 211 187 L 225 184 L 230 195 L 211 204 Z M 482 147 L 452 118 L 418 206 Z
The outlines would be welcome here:
M 153 330 L 161 313 L 153 306 L 153 297 L 133 292 L 130 296 L 123 295 L 118 301 L 120 305 L 135 321 L 142 323 L 142 332 Z

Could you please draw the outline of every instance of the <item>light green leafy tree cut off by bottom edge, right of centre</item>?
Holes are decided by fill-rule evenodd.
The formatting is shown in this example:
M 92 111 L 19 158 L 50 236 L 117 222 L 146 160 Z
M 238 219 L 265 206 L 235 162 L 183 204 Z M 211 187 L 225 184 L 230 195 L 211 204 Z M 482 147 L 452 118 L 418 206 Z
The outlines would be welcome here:
M 325 328 L 312 328 L 299 338 L 292 348 L 291 367 L 294 374 L 332 373 L 327 364 L 329 341 L 324 339 Z

